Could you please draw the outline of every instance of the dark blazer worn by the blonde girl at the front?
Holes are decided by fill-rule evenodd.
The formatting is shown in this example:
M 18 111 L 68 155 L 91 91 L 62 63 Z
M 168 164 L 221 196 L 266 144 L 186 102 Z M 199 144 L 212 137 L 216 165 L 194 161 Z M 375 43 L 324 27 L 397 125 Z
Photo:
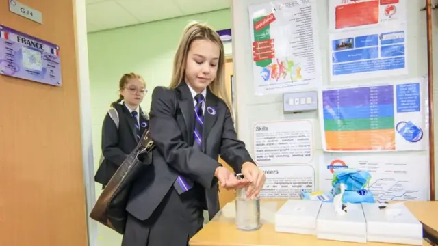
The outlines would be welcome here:
M 202 151 L 193 147 L 194 102 L 186 83 L 175 90 L 155 87 L 152 94 L 150 128 L 155 142 L 150 165 L 131 189 L 127 211 L 140 220 L 148 219 L 163 200 L 179 174 L 201 184 L 210 219 L 219 211 L 218 180 L 214 172 L 218 156 L 241 172 L 242 164 L 253 162 L 242 141 L 237 140 L 231 113 L 223 100 L 207 89 Z M 208 113 L 214 109 L 216 113 Z

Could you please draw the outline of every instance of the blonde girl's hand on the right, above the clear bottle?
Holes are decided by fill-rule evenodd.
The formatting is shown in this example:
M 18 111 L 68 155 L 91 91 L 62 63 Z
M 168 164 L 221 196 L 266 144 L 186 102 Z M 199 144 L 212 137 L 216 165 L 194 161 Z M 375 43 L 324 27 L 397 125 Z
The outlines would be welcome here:
M 254 163 L 246 162 L 242 165 L 242 174 L 245 176 L 246 180 L 251 182 L 248 189 L 246 189 L 246 196 L 250 199 L 259 197 L 260 191 L 265 184 L 265 173 Z

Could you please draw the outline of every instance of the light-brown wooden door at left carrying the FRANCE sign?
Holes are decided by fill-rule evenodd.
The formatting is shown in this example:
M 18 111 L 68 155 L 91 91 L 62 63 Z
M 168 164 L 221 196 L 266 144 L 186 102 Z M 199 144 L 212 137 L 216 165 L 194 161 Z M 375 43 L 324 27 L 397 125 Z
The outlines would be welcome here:
M 62 86 L 0 75 L 0 245 L 86 246 L 75 0 L 20 2 L 43 24 L 1 1 L 1 25 L 60 46 Z

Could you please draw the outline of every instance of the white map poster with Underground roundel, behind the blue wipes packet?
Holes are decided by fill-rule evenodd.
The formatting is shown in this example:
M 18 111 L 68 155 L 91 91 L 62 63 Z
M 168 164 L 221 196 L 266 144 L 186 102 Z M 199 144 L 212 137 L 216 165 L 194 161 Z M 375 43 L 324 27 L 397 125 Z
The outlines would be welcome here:
M 331 191 L 335 170 L 348 168 L 370 172 L 366 189 L 376 202 L 428 200 L 428 165 L 425 154 L 326 154 L 320 160 L 318 191 Z

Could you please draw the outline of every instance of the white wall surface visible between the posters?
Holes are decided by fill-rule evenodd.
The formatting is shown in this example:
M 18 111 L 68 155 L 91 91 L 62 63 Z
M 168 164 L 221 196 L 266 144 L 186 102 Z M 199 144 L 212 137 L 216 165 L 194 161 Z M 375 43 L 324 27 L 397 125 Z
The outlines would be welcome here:
M 423 0 L 409 0 L 407 18 L 407 68 L 408 75 L 394 76 L 391 78 L 378 79 L 361 79 L 355 81 L 331 83 L 329 80 L 329 15 L 328 1 L 318 1 L 318 33 L 319 33 L 319 48 L 320 48 L 320 64 L 322 66 L 322 84 L 323 85 L 348 85 L 350 83 L 370 83 L 378 79 L 389 81 L 400 81 L 402 79 L 413 79 L 421 77 L 427 73 L 427 49 L 426 49 L 426 12 L 420 12 L 419 9 L 424 7 Z M 235 64 L 235 81 L 236 81 L 236 97 L 237 97 L 237 131 L 240 139 L 244 141 L 248 150 L 252 149 L 253 144 L 253 126 L 256 122 L 267 122 L 277 120 L 296 120 L 296 119 L 311 119 L 315 125 L 313 132 L 315 134 L 315 158 L 318 162 L 322 152 L 322 138 L 318 113 L 316 111 L 309 113 L 283 114 L 283 98 L 282 94 L 270 94 L 265 96 L 255 96 L 253 85 L 253 61 L 252 61 L 252 45 L 250 39 L 250 26 L 248 5 L 267 3 L 266 0 L 233 0 L 231 12 L 233 16 L 233 57 Z M 275 1 L 272 1 L 275 3 Z M 435 13 L 436 14 L 436 13 Z M 435 27 L 434 27 L 435 28 Z M 435 28 L 436 29 L 436 28 Z M 435 30 L 435 33 L 437 31 Z M 436 35 L 435 35 L 436 36 Z M 438 37 L 437 37 L 438 38 Z M 434 53 L 435 57 L 437 53 Z M 438 64 L 438 61 L 435 62 Z M 436 68 L 437 65 L 435 65 Z M 438 75 L 437 75 L 438 76 Z M 436 80 L 435 80 L 436 81 Z M 437 83 L 435 83 L 436 85 Z M 423 84 L 426 87 L 426 84 Z M 437 86 L 435 86 L 437 87 Z M 319 89 L 319 88 L 315 88 Z M 437 91 L 434 92 L 435 97 Z M 437 105 L 438 106 L 438 105 Z M 436 124 L 435 124 L 436 125 Z M 435 150 L 437 150 L 435 148 Z M 253 154 L 253 153 L 252 153 Z M 397 152 L 398 155 L 409 156 L 412 152 Z M 426 151 L 422 154 L 427 154 Z M 315 163 L 317 164 L 317 163 Z M 318 180 L 318 169 L 316 170 L 315 178 Z M 424 180 L 426 177 L 416 177 Z M 428 182 L 427 182 L 428 184 Z M 437 186 L 436 186 L 437 187 Z M 318 186 L 317 186 L 318 189 Z

